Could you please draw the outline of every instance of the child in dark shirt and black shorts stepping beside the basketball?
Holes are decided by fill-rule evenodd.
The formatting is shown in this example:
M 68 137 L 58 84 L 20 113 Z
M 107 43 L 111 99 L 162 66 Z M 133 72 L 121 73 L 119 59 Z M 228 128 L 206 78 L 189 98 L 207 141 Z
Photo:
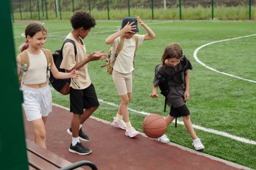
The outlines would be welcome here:
M 181 60 L 186 60 L 186 67 L 181 65 Z M 190 112 L 185 102 L 189 99 L 189 69 L 192 70 L 192 65 L 185 56 L 183 56 L 183 50 L 179 44 L 169 44 L 164 50 L 162 55 L 162 65 L 158 71 L 158 76 L 154 78 L 153 90 L 150 97 L 158 97 L 158 85 L 164 77 L 172 77 L 168 81 L 169 93 L 167 95 L 167 104 L 170 106 L 170 115 L 166 116 L 167 126 L 178 117 L 183 116 L 183 122 L 189 131 L 193 139 L 193 146 L 195 150 L 201 150 L 204 148 L 201 144 L 201 140 L 195 134 L 193 125 L 190 120 Z M 182 71 L 183 70 L 183 71 Z M 164 134 L 158 138 L 160 142 L 170 142 L 167 136 Z

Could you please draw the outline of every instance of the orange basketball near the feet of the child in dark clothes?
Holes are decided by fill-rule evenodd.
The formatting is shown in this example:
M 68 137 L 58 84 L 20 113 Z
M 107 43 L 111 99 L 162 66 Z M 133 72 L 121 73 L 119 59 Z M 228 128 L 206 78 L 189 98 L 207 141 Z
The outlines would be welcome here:
M 159 114 L 150 114 L 143 120 L 143 132 L 150 138 L 159 138 L 166 132 L 166 121 Z

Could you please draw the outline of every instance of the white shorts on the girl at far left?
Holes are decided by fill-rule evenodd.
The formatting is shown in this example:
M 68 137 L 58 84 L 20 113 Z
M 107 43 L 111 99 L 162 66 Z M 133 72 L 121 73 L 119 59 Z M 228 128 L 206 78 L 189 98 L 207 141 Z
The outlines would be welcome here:
M 22 85 L 25 110 L 28 121 L 38 120 L 52 112 L 52 93 L 49 85 L 34 89 Z

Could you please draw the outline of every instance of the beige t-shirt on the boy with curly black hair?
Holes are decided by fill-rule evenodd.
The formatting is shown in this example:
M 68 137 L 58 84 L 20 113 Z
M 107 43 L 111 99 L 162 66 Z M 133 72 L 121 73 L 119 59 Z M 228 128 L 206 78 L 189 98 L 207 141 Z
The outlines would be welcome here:
M 75 41 L 75 46 L 77 49 L 77 54 L 75 56 L 74 46 L 71 42 L 65 43 L 63 47 L 63 60 L 61 62 L 61 69 L 71 70 L 75 65 L 82 60 L 84 60 L 86 55 L 86 46 L 84 45 L 84 41 L 81 39 L 83 44 L 79 44 L 77 40 L 73 37 L 71 32 L 67 35 L 65 39 L 71 39 Z M 88 63 L 82 66 L 79 70 L 78 79 L 71 79 L 71 87 L 73 89 L 86 89 L 92 82 L 90 76 L 88 75 Z

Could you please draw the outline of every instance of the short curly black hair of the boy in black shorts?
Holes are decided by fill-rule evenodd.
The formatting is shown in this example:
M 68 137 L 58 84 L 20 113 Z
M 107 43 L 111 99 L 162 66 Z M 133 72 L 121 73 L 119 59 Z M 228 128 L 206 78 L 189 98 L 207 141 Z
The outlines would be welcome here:
M 75 11 L 74 15 L 70 19 L 71 26 L 73 29 L 84 28 L 84 30 L 89 30 L 96 26 L 94 17 L 87 13 L 86 11 Z

